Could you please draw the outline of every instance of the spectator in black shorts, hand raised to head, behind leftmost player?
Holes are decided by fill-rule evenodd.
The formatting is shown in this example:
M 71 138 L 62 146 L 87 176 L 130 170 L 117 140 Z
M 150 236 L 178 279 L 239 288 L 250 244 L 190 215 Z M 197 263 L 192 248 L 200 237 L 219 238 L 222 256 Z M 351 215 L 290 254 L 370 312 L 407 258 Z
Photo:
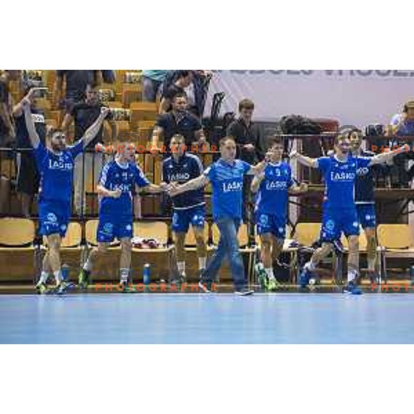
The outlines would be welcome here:
M 30 218 L 30 206 L 34 195 L 39 193 L 39 172 L 30 144 L 29 133 L 23 113 L 23 101 L 30 101 L 30 112 L 34 127 L 42 144 L 46 139 L 45 116 L 42 110 L 37 109 L 39 90 L 27 86 L 23 99 L 13 107 L 13 116 L 16 124 L 16 145 L 23 149 L 17 152 L 17 192 L 21 200 L 21 212 L 24 217 Z

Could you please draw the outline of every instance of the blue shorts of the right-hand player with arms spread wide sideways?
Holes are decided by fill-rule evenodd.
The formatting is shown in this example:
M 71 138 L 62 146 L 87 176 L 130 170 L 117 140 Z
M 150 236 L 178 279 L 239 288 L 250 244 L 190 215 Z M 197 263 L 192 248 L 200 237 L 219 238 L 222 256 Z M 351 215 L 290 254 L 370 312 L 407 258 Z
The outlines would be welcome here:
M 322 243 L 335 242 L 341 239 L 342 233 L 346 237 L 359 235 L 357 210 L 354 208 L 325 209 L 320 241 Z

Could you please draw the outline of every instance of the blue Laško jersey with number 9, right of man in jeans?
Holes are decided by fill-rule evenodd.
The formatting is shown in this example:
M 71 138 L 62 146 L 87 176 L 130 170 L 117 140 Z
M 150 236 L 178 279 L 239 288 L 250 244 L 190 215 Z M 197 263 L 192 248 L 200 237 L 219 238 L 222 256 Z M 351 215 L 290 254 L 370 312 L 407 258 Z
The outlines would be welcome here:
M 257 192 L 255 212 L 285 217 L 288 206 L 288 190 L 293 186 L 292 170 L 286 162 L 268 164 L 264 180 Z

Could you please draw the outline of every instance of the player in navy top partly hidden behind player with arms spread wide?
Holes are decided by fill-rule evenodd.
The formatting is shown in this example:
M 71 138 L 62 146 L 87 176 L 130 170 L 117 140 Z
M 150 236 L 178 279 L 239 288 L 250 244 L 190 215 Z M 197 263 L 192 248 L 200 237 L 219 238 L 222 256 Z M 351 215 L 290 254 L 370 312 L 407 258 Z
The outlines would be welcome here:
M 349 134 L 351 151 L 354 157 L 375 157 L 371 151 L 362 149 L 362 132 L 352 130 Z M 377 220 L 375 213 L 375 179 L 373 168 L 359 168 L 355 181 L 355 205 L 359 224 L 366 236 L 366 257 L 368 262 L 368 275 L 372 283 L 377 282 Z

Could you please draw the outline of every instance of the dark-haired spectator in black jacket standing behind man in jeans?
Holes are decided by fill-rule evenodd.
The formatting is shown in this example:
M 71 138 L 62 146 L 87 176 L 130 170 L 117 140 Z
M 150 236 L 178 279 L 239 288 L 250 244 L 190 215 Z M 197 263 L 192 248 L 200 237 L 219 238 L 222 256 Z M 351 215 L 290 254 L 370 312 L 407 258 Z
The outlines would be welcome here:
M 263 137 L 259 126 L 253 123 L 253 112 L 255 103 L 250 99 L 242 99 L 239 102 L 239 118 L 235 119 L 227 128 L 228 137 L 233 137 L 237 145 L 237 158 L 248 162 L 250 165 L 257 164 L 264 159 Z M 247 208 L 244 208 L 244 221 L 250 221 L 253 211 L 253 202 L 251 195 L 252 177 L 244 177 L 243 185 L 243 202 Z

